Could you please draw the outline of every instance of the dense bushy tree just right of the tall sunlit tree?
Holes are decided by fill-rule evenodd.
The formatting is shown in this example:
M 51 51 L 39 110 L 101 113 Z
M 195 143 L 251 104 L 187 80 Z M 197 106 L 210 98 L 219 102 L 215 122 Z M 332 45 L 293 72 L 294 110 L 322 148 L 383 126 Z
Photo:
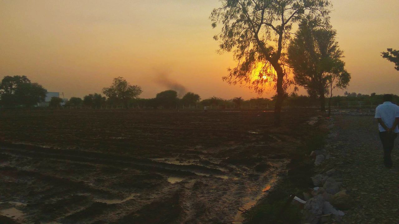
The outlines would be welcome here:
M 344 52 L 335 36 L 335 30 L 302 22 L 288 46 L 288 63 L 292 66 L 295 83 L 303 86 L 310 96 L 320 99 L 322 112 L 325 111 L 325 95 L 330 92 L 331 97 L 332 90 L 346 88 L 350 81 L 342 61 Z

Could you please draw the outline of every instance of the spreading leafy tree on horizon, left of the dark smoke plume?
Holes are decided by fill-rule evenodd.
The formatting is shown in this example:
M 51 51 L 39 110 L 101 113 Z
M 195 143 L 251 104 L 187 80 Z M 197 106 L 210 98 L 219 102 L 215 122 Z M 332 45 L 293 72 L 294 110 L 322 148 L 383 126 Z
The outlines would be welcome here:
M 129 100 L 136 98 L 142 92 L 140 86 L 132 86 L 122 77 L 115 78 L 110 87 L 103 88 L 105 96 L 122 102 L 126 109 L 128 108 Z

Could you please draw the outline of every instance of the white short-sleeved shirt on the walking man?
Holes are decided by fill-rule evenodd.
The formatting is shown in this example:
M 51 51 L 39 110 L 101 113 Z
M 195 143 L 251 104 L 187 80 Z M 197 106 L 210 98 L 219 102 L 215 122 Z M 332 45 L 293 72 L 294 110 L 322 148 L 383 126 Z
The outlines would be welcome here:
M 391 103 L 384 102 L 375 108 L 375 118 L 381 118 L 382 122 L 388 127 L 392 128 L 393 122 L 395 122 L 395 118 L 399 118 L 399 106 Z M 385 132 L 386 130 L 378 124 L 378 128 L 380 132 Z M 398 126 L 395 127 L 395 133 L 399 133 Z

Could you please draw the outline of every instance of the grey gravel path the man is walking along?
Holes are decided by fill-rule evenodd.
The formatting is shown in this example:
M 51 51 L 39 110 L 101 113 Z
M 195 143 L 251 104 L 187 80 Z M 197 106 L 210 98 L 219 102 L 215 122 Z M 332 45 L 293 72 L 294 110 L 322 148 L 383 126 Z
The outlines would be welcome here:
M 383 166 L 377 123 L 372 116 L 335 116 L 330 142 L 336 147 L 337 170 L 356 203 L 344 223 L 399 224 L 399 140 L 393 167 Z M 339 162 L 341 161 L 341 162 Z

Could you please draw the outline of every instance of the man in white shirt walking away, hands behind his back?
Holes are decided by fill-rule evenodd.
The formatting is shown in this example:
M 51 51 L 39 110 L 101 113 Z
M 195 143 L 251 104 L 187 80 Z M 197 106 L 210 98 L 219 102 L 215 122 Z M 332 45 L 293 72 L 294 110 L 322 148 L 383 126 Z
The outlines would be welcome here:
M 384 165 L 391 168 L 393 165 L 391 159 L 393 143 L 399 133 L 399 106 L 391 102 L 391 94 L 385 94 L 383 100 L 384 103 L 375 109 L 375 118 L 378 121 L 379 138 L 384 149 Z

